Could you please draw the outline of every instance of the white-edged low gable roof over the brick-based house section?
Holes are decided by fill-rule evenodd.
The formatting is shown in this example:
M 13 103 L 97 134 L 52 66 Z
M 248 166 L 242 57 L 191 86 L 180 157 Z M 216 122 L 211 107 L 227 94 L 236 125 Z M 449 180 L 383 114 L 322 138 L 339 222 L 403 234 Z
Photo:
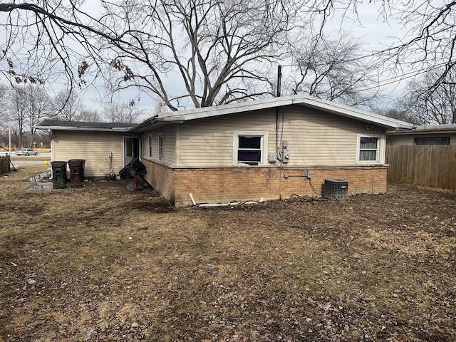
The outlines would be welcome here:
M 388 118 L 383 115 L 360 110 L 348 105 L 341 105 L 328 100 L 321 100 L 309 95 L 291 95 L 279 98 L 268 98 L 265 100 L 254 100 L 241 103 L 231 103 L 228 105 L 215 105 L 212 107 L 196 108 L 190 110 L 179 110 L 166 113 L 160 113 L 152 118 L 145 120 L 135 126 L 133 131 L 141 131 L 149 128 L 151 125 L 163 125 L 164 123 L 183 123 L 188 120 L 201 118 L 212 118 L 219 115 L 230 115 L 235 113 L 244 113 L 247 111 L 264 110 L 289 105 L 301 105 L 306 108 L 315 108 L 326 113 L 341 115 L 347 118 L 361 120 L 366 123 L 379 125 L 384 128 L 407 129 L 413 128 L 413 124 L 405 121 Z

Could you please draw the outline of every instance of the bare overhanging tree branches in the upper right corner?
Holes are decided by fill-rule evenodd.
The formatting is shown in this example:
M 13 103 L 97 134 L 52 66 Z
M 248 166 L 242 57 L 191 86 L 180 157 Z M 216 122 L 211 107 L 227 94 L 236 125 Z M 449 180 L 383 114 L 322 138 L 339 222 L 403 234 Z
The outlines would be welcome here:
M 346 20 L 351 26 L 363 21 L 359 8 L 362 0 L 316 0 L 303 7 L 302 13 L 319 23 L 322 33 L 334 17 Z M 391 38 L 391 45 L 381 51 L 373 51 L 383 61 L 385 75 L 400 79 L 408 73 L 419 74 L 440 66 L 434 82 L 428 84 L 427 93 L 435 91 L 456 66 L 456 1 L 369 1 L 369 11 L 378 13 L 378 19 L 398 22 L 402 29 Z M 411 72 L 410 72 L 411 71 Z

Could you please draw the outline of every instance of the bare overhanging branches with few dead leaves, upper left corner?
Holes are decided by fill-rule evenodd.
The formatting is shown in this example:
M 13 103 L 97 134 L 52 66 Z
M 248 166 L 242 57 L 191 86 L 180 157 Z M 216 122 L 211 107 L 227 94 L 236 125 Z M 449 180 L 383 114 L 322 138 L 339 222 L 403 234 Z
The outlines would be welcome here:
M 14 83 L 40 85 L 64 73 L 71 88 L 85 86 L 84 76 L 97 71 L 87 61 L 98 65 L 102 60 L 98 39 L 119 37 L 83 9 L 93 7 L 84 1 L 1 3 L 0 72 Z

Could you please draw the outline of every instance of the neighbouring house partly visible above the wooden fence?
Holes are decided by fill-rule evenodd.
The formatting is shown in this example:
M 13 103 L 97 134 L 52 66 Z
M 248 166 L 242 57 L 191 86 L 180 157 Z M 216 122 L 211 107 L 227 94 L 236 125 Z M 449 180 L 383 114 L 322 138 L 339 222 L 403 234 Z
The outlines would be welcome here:
M 456 145 L 456 123 L 388 130 L 386 135 L 388 145 Z

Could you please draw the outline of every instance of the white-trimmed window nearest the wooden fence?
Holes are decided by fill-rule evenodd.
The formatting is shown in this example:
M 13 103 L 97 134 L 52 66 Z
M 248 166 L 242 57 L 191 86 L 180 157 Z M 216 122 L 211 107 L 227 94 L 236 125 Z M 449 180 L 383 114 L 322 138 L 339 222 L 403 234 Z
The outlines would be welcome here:
M 357 164 L 383 164 L 383 135 L 358 134 L 356 144 Z

